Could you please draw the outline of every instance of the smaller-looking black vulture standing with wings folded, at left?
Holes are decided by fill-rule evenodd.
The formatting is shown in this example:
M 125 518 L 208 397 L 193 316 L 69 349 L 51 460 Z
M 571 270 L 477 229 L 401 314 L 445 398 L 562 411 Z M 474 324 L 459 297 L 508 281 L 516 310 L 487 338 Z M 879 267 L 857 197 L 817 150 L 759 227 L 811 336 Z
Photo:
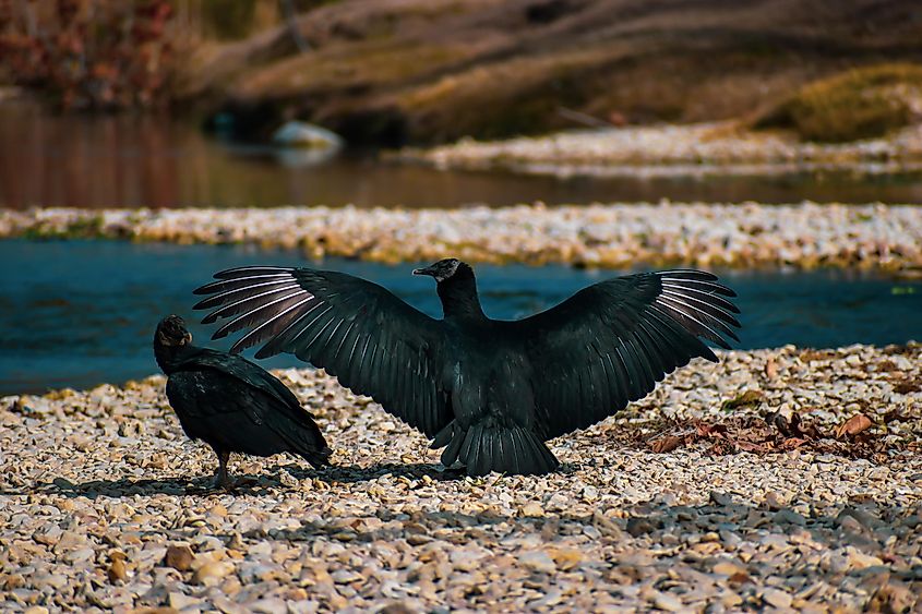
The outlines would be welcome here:
M 182 430 L 218 456 L 218 485 L 228 487 L 230 453 L 272 456 L 290 452 L 314 467 L 331 450 L 298 398 L 285 384 L 243 357 L 191 345 L 178 315 L 160 321 L 154 356 L 167 374 L 167 398 Z

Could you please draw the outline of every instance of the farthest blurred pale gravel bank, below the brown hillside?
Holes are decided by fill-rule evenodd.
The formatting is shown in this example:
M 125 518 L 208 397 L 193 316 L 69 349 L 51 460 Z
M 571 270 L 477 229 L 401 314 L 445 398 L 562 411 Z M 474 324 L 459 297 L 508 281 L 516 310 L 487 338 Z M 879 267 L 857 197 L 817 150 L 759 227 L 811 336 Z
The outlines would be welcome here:
M 922 164 L 922 125 L 887 139 L 845 144 L 801 143 L 727 123 L 620 128 L 494 142 L 463 140 L 431 149 L 405 149 L 396 157 L 439 168 L 551 174 L 635 173 L 638 167 L 651 167 L 642 171 L 649 174 L 694 174 L 709 167 L 722 173 L 865 166 L 872 172 L 893 172 Z

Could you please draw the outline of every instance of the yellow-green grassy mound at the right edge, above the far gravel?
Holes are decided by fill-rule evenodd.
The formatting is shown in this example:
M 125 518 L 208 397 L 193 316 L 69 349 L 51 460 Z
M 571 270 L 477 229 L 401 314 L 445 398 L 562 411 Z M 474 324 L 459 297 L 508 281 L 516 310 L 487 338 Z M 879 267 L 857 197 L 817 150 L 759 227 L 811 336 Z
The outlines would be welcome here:
M 793 130 L 805 141 L 883 136 L 919 119 L 922 65 L 878 64 L 811 83 L 756 119 L 754 128 Z

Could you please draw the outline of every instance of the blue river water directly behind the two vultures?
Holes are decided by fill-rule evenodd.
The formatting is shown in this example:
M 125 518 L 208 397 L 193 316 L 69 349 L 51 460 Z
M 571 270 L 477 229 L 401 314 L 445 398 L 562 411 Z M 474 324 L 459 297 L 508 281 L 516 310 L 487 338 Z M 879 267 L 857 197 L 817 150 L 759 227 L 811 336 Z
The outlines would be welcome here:
M 117 241 L 0 241 L 0 394 L 120 383 L 157 372 L 151 341 L 157 321 L 184 316 L 197 342 L 192 290 L 223 268 L 309 265 L 372 279 L 432 315 L 441 308 L 430 278 L 414 264 L 345 260 L 311 263 L 298 252 L 246 246 L 135 244 Z M 579 288 L 623 272 L 565 266 L 477 267 L 484 310 L 514 318 L 540 311 Z M 922 339 L 922 282 L 836 270 L 723 272 L 740 294 L 740 348 L 834 347 Z M 213 344 L 226 349 L 229 339 Z M 252 350 L 251 350 L 252 351 Z M 262 361 L 290 366 L 292 357 Z

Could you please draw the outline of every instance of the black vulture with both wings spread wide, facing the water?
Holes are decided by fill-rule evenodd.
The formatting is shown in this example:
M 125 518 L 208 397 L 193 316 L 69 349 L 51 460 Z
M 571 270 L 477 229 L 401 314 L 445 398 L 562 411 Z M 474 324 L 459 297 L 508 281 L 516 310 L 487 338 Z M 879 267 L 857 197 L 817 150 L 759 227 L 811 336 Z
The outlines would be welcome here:
M 474 269 L 455 258 L 415 275 L 438 282 L 434 320 L 370 281 L 311 268 L 224 270 L 195 290 L 236 316 L 214 338 L 249 328 L 231 352 L 268 340 L 256 358 L 290 352 L 447 446 L 471 475 L 546 473 L 558 460 L 543 442 L 624 409 L 695 357 L 717 361 L 703 337 L 729 348 L 739 310 L 699 270 L 640 273 L 584 288 L 515 322 L 490 320 Z

